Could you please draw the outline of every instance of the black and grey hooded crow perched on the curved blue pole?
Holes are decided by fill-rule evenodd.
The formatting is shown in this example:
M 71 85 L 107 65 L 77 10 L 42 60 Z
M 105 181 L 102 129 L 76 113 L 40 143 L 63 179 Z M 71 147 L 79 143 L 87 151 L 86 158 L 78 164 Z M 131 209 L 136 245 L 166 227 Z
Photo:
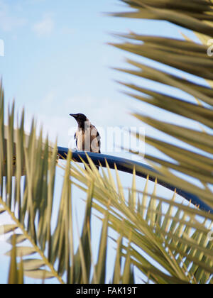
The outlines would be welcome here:
M 77 121 L 78 128 L 75 133 L 77 150 L 92 153 L 101 153 L 100 135 L 94 125 L 84 114 L 70 114 Z

